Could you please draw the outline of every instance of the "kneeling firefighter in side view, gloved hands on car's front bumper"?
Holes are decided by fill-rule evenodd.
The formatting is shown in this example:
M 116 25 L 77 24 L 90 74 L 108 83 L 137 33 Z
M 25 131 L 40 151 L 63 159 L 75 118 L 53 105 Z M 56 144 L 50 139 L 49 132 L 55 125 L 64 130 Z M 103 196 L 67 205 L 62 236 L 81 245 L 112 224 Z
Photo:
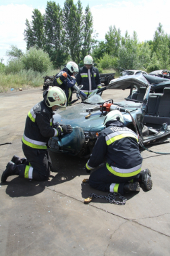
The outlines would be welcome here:
M 70 125 L 53 125 L 53 111 L 65 108 L 66 96 L 59 87 L 49 87 L 43 93 L 44 100 L 28 112 L 22 137 L 22 150 L 26 158 L 13 156 L 1 177 L 5 182 L 8 176 L 19 175 L 26 179 L 47 180 L 50 175 L 51 158 L 47 151 L 50 137 L 72 133 Z

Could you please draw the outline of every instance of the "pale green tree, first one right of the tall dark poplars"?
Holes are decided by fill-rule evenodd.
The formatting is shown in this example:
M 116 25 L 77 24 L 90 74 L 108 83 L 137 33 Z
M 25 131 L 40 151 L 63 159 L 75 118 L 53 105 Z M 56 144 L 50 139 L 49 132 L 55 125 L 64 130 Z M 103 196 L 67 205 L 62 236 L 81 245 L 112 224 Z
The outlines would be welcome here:
M 121 30 L 115 26 L 109 26 L 109 32 L 105 35 L 107 53 L 112 56 L 118 56 L 118 50 L 121 45 Z

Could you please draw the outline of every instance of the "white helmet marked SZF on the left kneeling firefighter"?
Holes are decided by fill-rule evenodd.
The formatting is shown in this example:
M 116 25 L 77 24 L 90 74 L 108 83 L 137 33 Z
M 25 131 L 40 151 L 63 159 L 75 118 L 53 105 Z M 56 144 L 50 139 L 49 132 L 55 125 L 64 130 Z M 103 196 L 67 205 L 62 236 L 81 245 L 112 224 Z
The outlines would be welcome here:
M 57 105 L 59 108 L 65 108 L 67 104 L 67 98 L 61 88 L 56 86 L 49 86 L 45 103 L 49 108 L 52 108 L 55 105 Z

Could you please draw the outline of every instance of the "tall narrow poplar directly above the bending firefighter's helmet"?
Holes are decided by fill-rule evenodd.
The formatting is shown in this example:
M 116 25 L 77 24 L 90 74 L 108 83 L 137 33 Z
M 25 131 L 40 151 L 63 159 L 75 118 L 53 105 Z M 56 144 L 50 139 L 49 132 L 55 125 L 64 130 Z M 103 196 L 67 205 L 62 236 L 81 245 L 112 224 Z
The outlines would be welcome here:
M 65 44 L 69 54 L 75 62 L 80 60 L 83 31 L 82 3 L 78 0 L 78 7 L 73 0 L 66 0 L 63 7 L 63 28 L 65 30 Z

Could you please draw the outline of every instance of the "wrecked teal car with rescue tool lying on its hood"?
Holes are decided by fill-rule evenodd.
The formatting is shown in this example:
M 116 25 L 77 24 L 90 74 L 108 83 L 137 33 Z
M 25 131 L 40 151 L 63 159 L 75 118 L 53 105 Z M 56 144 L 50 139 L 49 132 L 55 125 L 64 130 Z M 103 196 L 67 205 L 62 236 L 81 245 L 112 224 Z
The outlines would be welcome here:
M 125 100 L 114 103 L 114 99 L 102 99 L 105 89 L 127 89 Z M 134 89 L 135 88 L 135 89 Z M 155 89 L 155 88 L 154 88 Z M 125 127 L 138 133 L 142 144 L 152 143 L 170 134 L 170 87 L 163 93 L 155 93 L 152 85 L 142 73 L 113 79 L 107 87 L 96 89 L 83 102 L 69 106 L 65 111 L 57 110 L 54 122 L 70 124 L 73 132 L 61 138 L 52 137 L 49 150 L 56 153 L 89 157 L 98 137 L 105 129 L 103 121 L 108 111 L 118 109 L 123 114 Z

